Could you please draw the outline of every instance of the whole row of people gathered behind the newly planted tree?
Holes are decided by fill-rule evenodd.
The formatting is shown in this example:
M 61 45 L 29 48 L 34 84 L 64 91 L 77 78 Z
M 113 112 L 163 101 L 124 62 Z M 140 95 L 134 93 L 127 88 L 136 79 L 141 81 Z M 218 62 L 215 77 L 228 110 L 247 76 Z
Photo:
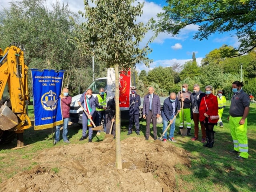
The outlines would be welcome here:
M 234 143 L 234 149 L 229 151 L 231 154 L 238 154 L 235 158 L 243 160 L 248 158 L 248 140 L 247 140 L 247 116 L 249 113 L 250 98 L 242 90 L 243 83 L 235 81 L 232 83 L 232 91 L 234 95 L 230 104 L 230 121 L 231 136 Z M 67 138 L 67 125 L 69 118 L 69 108 L 71 103 L 71 97 L 68 96 L 68 89 L 63 89 L 63 94 L 60 96 L 63 115 L 63 140 L 69 143 Z M 104 88 L 100 88 L 99 94 L 94 98 L 92 96 L 92 90 L 88 89 L 84 92 L 78 101 L 79 105 L 82 105 L 87 114 L 83 112 L 82 123 L 82 137 L 80 141 L 88 137 L 88 142 L 92 142 L 92 125 L 90 119 L 96 118 L 97 126 L 100 126 L 101 120 L 104 120 L 104 132 L 106 134 L 112 134 L 115 137 L 115 113 L 116 104 L 115 97 L 110 99 L 106 104 L 106 92 Z M 127 135 L 132 134 L 133 124 L 135 125 L 135 132 L 140 135 L 139 124 L 139 106 L 140 95 L 136 93 L 136 87 L 131 87 L 130 94 L 130 107 L 129 107 L 129 126 Z M 142 116 L 146 119 L 146 134 L 145 139 L 148 140 L 150 136 L 150 124 L 153 126 L 153 138 L 157 139 L 156 123 L 157 118 L 160 116 L 163 119 L 163 142 L 167 140 L 176 142 L 174 139 L 175 132 L 175 120 L 179 113 L 180 124 L 179 128 L 187 129 L 187 134 L 191 135 L 191 120 L 194 121 L 194 136 L 192 141 L 198 140 L 199 123 L 201 127 L 203 146 L 212 148 L 214 146 L 214 126 L 219 123 L 220 127 L 223 127 L 222 114 L 226 106 L 226 98 L 222 95 L 222 90 L 218 90 L 215 96 L 212 93 L 212 86 L 205 87 L 205 91 L 200 90 L 200 86 L 195 84 L 193 86 L 193 92 L 188 91 L 188 84 L 183 84 L 182 89 L 178 94 L 172 92 L 169 97 L 164 100 L 162 106 L 160 98 L 154 93 L 154 88 L 148 88 L 148 94 L 144 96 Z M 169 124 L 168 124 L 169 122 Z M 112 127 L 111 127 L 112 126 Z M 167 137 L 167 130 L 170 127 L 170 131 Z M 88 129 L 88 135 L 86 134 Z M 111 130 L 111 132 L 110 132 Z M 56 138 L 54 144 L 59 141 L 60 126 L 56 126 Z M 180 131 L 177 132 L 180 134 Z

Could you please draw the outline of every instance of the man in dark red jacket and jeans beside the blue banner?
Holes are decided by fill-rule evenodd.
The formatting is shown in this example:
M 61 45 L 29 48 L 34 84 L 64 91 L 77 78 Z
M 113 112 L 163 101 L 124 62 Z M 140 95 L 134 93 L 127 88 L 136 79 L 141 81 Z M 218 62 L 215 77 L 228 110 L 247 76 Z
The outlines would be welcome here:
M 69 110 L 70 110 L 71 100 L 72 100 L 72 98 L 70 96 L 68 96 L 68 89 L 64 88 L 62 90 L 62 94 L 60 94 L 60 104 L 61 104 L 61 112 L 62 112 L 62 118 L 63 118 L 62 138 L 65 143 L 70 143 L 70 141 L 67 138 L 67 134 L 68 134 L 68 119 L 69 119 Z M 60 127 L 61 126 L 62 125 L 56 126 L 54 145 L 60 139 Z

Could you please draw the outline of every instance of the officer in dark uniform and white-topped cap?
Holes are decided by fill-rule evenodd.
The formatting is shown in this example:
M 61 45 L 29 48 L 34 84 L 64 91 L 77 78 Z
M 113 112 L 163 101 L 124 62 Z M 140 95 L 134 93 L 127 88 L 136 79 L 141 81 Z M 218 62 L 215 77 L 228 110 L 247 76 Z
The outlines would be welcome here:
M 136 94 L 136 87 L 132 86 L 131 87 L 131 92 L 130 94 L 130 110 L 129 110 L 129 128 L 128 128 L 128 134 L 132 134 L 132 126 L 133 122 L 135 124 L 136 128 L 136 134 L 140 134 L 140 121 L 139 121 L 139 106 L 140 106 L 140 96 Z

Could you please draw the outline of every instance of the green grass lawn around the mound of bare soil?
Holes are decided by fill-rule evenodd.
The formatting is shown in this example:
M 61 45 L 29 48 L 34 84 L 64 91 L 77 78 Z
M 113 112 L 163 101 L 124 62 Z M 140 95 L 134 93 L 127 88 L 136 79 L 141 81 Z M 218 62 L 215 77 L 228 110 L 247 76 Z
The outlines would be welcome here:
M 250 114 L 248 116 L 248 145 L 249 145 L 249 158 L 244 161 L 238 161 L 234 159 L 235 155 L 229 154 L 228 151 L 233 149 L 232 138 L 230 135 L 230 127 L 228 124 L 228 106 L 224 110 L 222 120 L 224 122 L 224 128 L 215 126 L 215 143 L 213 148 L 203 147 L 202 143 L 199 141 L 191 141 L 192 136 L 179 136 L 176 135 L 178 131 L 178 124 L 180 122 L 179 118 L 176 119 L 176 131 L 174 134 L 177 140 L 174 143 L 175 146 L 184 148 L 190 152 L 192 156 L 192 167 L 190 171 L 192 174 L 189 175 L 178 175 L 184 182 L 189 182 L 193 192 L 252 192 L 256 191 L 256 120 L 254 114 L 256 114 L 256 104 L 251 104 Z M 29 106 L 29 116 L 33 115 L 33 108 Z M 162 124 L 158 124 L 158 136 L 162 133 Z M 137 136 L 134 132 L 132 135 L 127 136 L 127 123 L 121 124 L 121 140 L 130 137 Z M 142 120 L 140 122 L 141 134 L 140 137 L 145 135 L 146 122 Z M 0 150 L 0 160 L 1 154 L 6 153 L 19 153 L 21 158 L 33 158 L 33 153 L 37 150 L 43 150 L 44 148 L 52 148 L 52 132 L 54 129 L 37 130 L 33 128 L 25 130 L 24 132 L 24 143 L 25 145 L 32 145 L 33 147 L 28 150 L 28 148 L 22 148 L 19 150 L 12 150 L 11 148 L 16 147 L 16 141 L 9 145 L 1 146 Z M 192 134 L 194 133 L 194 124 L 192 121 Z M 72 144 L 79 144 L 79 138 L 82 136 L 82 129 L 80 125 L 74 125 L 68 130 L 68 138 Z M 94 133 L 93 142 L 99 142 L 104 140 L 105 135 L 101 134 L 97 136 Z M 199 138 L 201 138 L 201 133 L 199 131 Z M 149 141 L 151 142 L 151 141 Z M 153 141 L 152 141 L 153 142 Z M 65 145 L 64 142 L 58 142 L 57 145 Z M 6 167 L 12 167 L 15 164 L 15 160 L 11 160 L 9 164 L 0 163 L 0 171 L 3 172 Z M 34 162 L 36 164 L 36 162 Z M 31 167 L 34 166 L 33 164 Z M 28 168 L 29 169 L 29 168 Z M 14 170 L 12 174 L 7 177 L 11 177 L 17 173 Z M 2 178 L 0 178 L 2 182 Z M 177 183 L 179 185 L 179 183 Z M 182 189 L 182 186 L 179 186 Z M 186 190 L 186 189 L 183 189 Z

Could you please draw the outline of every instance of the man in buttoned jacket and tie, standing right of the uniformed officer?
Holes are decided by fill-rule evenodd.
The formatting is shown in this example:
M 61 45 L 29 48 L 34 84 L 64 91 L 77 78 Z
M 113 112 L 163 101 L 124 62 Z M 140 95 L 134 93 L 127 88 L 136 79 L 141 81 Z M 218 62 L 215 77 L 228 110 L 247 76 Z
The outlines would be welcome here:
M 148 88 L 148 94 L 144 96 L 143 101 L 143 118 L 146 119 L 146 140 L 150 136 L 150 121 L 153 124 L 154 140 L 157 139 L 156 130 L 156 119 L 160 116 L 160 98 L 158 95 L 154 94 L 154 88 Z

